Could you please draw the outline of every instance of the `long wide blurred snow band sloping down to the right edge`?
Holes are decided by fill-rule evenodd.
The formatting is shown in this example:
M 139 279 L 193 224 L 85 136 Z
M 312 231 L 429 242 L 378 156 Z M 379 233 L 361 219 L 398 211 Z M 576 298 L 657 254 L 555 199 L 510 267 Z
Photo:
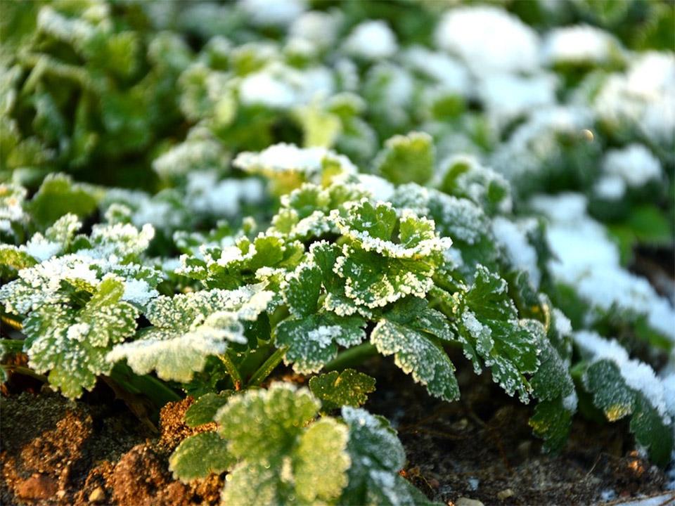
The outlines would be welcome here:
M 651 327 L 675 341 L 675 309 L 645 278 L 622 268 L 619 249 L 586 214 L 583 195 L 539 195 L 530 205 L 551 219 L 546 237 L 557 257 L 549 263 L 556 280 L 575 287 L 597 309 L 615 306 L 646 315 Z

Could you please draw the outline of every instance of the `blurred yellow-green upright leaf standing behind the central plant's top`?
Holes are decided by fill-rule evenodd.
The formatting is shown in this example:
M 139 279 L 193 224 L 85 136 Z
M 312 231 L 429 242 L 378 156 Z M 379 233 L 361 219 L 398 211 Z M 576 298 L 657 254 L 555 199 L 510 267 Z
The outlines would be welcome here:
M 375 158 L 375 171 L 395 184 L 426 183 L 434 174 L 435 149 L 424 132 L 393 136 Z

